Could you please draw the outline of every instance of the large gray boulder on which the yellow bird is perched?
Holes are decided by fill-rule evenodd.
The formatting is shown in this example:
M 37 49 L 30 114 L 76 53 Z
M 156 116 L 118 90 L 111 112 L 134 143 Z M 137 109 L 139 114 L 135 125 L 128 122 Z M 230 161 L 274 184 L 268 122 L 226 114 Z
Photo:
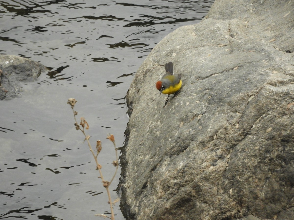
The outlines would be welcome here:
M 127 219 L 294 216 L 293 11 L 294 1 L 216 1 L 152 50 L 126 97 Z M 183 86 L 163 108 L 155 83 L 168 61 Z

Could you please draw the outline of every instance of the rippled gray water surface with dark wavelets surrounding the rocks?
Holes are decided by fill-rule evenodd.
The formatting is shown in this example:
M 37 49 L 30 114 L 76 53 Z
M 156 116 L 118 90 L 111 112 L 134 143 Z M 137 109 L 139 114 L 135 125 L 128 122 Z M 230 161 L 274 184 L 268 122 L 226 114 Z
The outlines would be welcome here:
M 128 118 L 124 97 L 145 57 L 176 28 L 198 23 L 213 0 L 0 1 L 0 54 L 30 58 L 50 71 L 19 96 L 0 101 L 0 219 L 97 219 L 107 195 L 66 104 L 76 98 L 99 163 L 111 179 Z M 156 89 L 155 85 L 150 89 Z M 117 197 L 119 173 L 111 185 Z M 116 219 L 123 219 L 119 204 Z

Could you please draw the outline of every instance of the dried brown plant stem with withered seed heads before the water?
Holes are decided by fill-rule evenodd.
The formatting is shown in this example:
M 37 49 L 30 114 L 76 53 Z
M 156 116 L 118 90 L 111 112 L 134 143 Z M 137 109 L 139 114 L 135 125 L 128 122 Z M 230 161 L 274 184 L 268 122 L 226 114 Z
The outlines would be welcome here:
M 114 179 L 114 177 L 116 175 L 116 172 L 118 170 L 118 154 L 117 154 L 116 144 L 115 144 L 115 141 L 114 141 L 114 136 L 109 134 L 108 137 L 107 137 L 107 139 L 109 139 L 113 143 L 114 148 L 115 148 L 115 153 L 116 153 L 116 161 L 113 161 L 113 165 L 116 167 L 116 169 L 115 169 L 115 172 L 114 172 L 114 175 L 113 175 L 111 181 L 108 182 L 108 181 L 104 180 L 104 177 L 103 177 L 102 172 L 101 172 L 101 165 L 98 163 L 98 160 L 97 160 L 97 157 L 98 157 L 98 154 L 100 153 L 101 148 L 99 150 L 97 148 L 97 153 L 95 155 L 95 153 L 94 153 L 94 151 L 92 149 L 92 146 L 90 144 L 90 141 L 89 141 L 90 136 L 89 135 L 86 135 L 85 130 L 84 130 L 85 129 L 85 126 L 87 126 L 86 129 L 89 128 L 88 123 L 86 122 L 86 120 L 84 118 L 81 118 L 81 123 L 80 123 L 80 125 L 82 127 L 81 128 L 79 126 L 78 122 L 76 121 L 76 115 L 78 113 L 76 111 L 74 111 L 74 105 L 75 105 L 75 103 L 76 103 L 76 100 L 75 99 L 69 99 L 68 100 L 68 104 L 71 105 L 71 109 L 73 110 L 73 113 L 74 113 L 74 120 L 76 122 L 75 123 L 76 130 L 80 130 L 83 133 L 83 135 L 85 136 L 85 140 L 87 141 L 88 146 L 89 146 L 89 149 L 90 149 L 90 151 L 91 151 L 91 153 L 92 153 L 92 155 L 94 157 L 94 160 L 96 162 L 96 169 L 99 171 L 100 178 L 102 180 L 103 186 L 106 189 L 106 192 L 107 192 L 107 195 L 108 195 L 108 203 L 110 205 L 110 210 L 111 210 L 111 218 L 109 216 L 104 215 L 104 214 L 98 214 L 97 216 L 103 216 L 103 217 L 106 217 L 106 218 L 109 218 L 109 219 L 113 219 L 114 220 L 114 212 L 113 212 L 113 207 L 112 207 L 112 204 L 114 204 L 114 203 L 112 203 L 112 201 L 111 201 L 111 195 L 110 195 L 110 191 L 109 191 L 109 186 L 110 186 L 111 182 L 113 181 L 113 179 Z M 101 146 L 101 141 L 97 141 L 97 146 L 99 144 Z

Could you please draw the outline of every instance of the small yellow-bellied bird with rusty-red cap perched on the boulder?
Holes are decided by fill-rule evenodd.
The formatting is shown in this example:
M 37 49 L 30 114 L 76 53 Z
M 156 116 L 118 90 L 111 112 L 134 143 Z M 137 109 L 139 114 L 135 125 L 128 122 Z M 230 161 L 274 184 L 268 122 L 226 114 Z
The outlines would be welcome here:
M 164 74 L 159 81 L 156 82 L 156 89 L 159 90 L 160 94 L 168 94 L 168 97 L 170 94 L 174 94 L 178 92 L 179 89 L 181 89 L 182 86 L 182 74 L 173 74 L 173 63 L 168 62 L 164 65 L 164 68 L 166 69 L 166 74 Z M 167 103 L 167 99 L 165 101 L 165 105 Z M 163 106 L 163 107 L 164 107 Z

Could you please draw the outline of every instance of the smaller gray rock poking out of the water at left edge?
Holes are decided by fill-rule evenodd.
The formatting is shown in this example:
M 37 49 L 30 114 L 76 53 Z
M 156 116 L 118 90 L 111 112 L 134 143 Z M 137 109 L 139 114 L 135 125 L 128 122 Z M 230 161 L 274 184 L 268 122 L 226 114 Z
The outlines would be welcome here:
M 36 80 L 46 67 L 14 55 L 0 55 L 0 99 L 11 99 L 22 91 L 24 82 Z

